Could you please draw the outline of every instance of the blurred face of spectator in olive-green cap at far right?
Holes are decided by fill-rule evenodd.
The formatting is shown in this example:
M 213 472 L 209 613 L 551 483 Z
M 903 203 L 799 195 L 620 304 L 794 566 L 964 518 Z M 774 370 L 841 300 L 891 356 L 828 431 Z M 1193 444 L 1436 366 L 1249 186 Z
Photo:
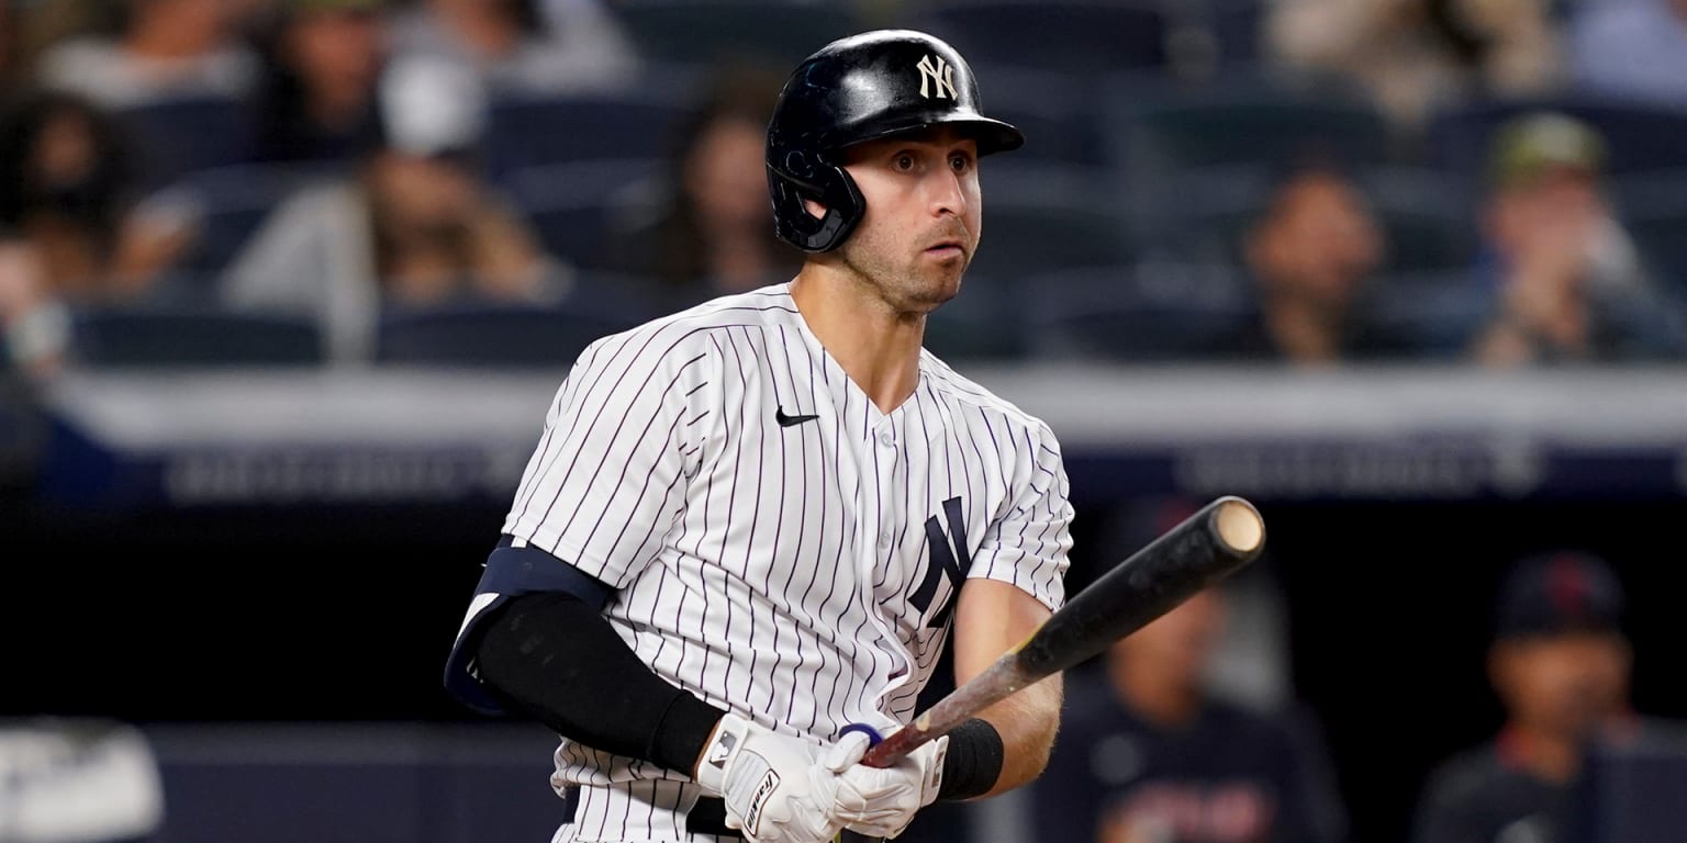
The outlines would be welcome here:
M 1555 167 L 1500 189 L 1488 209 L 1495 246 L 1518 255 L 1533 246 L 1581 243 L 1604 217 L 1593 172 Z

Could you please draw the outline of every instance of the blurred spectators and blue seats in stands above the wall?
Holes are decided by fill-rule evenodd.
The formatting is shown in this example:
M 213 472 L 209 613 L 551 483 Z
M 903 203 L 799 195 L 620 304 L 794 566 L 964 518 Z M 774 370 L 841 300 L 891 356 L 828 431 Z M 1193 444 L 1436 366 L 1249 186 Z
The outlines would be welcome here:
M 786 280 L 769 103 L 801 56 L 874 25 L 948 37 L 1031 138 L 984 172 L 990 236 L 933 325 L 948 357 L 1512 366 L 1687 344 L 1672 0 L 0 8 L 0 325 L 34 373 L 553 364 Z M 538 319 L 580 342 L 511 329 Z

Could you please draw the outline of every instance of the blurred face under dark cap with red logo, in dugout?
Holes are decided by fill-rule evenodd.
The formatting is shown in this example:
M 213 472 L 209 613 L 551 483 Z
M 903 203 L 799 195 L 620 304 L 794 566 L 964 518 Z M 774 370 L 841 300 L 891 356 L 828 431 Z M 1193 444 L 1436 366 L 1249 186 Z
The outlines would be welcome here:
M 1582 737 L 1626 705 L 1630 649 L 1614 632 L 1515 637 L 1495 644 L 1490 674 L 1513 722 Z

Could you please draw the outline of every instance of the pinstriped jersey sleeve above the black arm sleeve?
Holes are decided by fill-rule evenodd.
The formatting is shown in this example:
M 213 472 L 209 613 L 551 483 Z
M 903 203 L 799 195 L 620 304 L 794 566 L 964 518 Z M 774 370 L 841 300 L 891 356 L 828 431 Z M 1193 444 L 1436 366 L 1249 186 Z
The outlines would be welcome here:
M 557 391 L 503 531 L 624 588 L 658 553 L 719 418 L 719 366 L 695 334 L 590 346 Z

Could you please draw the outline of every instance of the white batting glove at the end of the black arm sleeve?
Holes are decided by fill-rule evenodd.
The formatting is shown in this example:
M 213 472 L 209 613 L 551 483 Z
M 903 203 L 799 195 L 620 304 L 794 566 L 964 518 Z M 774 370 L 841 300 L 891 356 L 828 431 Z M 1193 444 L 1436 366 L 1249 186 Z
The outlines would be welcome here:
M 737 715 L 720 718 L 697 762 L 697 784 L 725 803 L 727 828 L 749 843 L 832 843 L 837 781 L 806 740 Z

